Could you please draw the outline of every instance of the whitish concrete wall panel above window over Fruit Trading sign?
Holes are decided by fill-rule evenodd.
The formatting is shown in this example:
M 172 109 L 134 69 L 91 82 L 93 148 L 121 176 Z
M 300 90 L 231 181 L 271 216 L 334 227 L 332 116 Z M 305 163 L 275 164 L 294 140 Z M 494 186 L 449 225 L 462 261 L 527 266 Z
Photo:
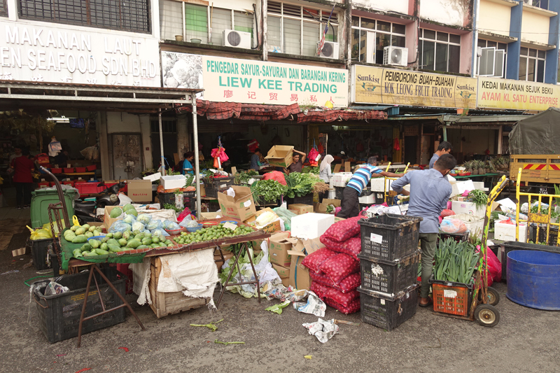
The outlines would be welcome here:
M 467 27 L 472 23 L 468 0 L 422 0 L 419 17 L 434 22 Z

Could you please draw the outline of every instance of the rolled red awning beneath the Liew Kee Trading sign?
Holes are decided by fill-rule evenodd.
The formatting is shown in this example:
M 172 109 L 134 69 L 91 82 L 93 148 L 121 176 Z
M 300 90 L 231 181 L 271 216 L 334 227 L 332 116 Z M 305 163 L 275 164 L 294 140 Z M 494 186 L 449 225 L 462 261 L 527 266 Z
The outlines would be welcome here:
M 190 113 L 192 111 L 193 108 L 191 106 L 176 108 L 177 113 Z M 387 113 L 378 110 L 356 111 L 314 108 L 302 112 L 300 106 L 296 103 L 291 105 L 263 105 L 204 100 L 197 100 L 197 114 L 206 115 L 208 119 L 212 120 L 228 118 L 239 118 L 241 120 L 281 120 L 294 115 L 291 120 L 295 120 L 297 123 L 387 119 Z

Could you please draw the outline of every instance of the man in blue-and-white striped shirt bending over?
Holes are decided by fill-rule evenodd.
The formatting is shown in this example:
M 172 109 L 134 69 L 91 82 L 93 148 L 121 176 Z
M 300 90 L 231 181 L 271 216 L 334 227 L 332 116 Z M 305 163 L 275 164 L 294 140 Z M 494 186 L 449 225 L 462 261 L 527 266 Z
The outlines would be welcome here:
M 360 167 L 359 169 L 354 172 L 352 178 L 346 184 L 346 188 L 342 192 L 342 210 L 338 213 L 338 218 L 353 218 L 354 216 L 358 216 L 360 212 L 360 202 L 358 197 L 367 186 L 367 183 L 370 182 L 370 178 L 372 178 L 372 174 L 376 174 L 376 176 L 388 176 L 391 178 L 398 178 L 402 175 L 393 174 L 392 172 L 385 172 L 382 171 L 377 165 L 377 158 L 370 157 L 367 160 L 367 164 L 365 166 Z

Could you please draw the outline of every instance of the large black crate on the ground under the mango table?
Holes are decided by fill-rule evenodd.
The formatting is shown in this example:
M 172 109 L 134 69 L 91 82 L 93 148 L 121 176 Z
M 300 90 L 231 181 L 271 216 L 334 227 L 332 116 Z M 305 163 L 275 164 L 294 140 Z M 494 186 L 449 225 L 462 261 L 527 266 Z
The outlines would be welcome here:
M 118 292 L 124 296 L 127 276 L 111 267 L 103 268 L 102 271 Z M 64 339 L 78 337 L 78 325 L 80 323 L 80 314 L 82 312 L 85 287 L 87 286 L 89 274 L 89 272 L 83 272 L 55 277 L 57 283 L 70 289 L 69 292 L 58 295 L 45 295 L 45 287 L 50 282 L 50 279 L 36 281 L 33 284 L 33 295 L 37 302 L 36 309 L 39 325 L 48 342 L 55 343 Z M 101 293 L 106 309 L 123 304 L 123 301 L 120 300 L 118 295 L 113 292 L 98 273 L 95 273 L 94 276 L 99 284 L 99 293 Z M 85 316 L 97 314 L 101 311 L 103 311 L 102 304 L 99 301 L 99 295 L 92 279 L 90 294 L 87 297 Z M 123 323 L 123 321 L 125 321 L 124 307 L 84 321 L 82 334 Z

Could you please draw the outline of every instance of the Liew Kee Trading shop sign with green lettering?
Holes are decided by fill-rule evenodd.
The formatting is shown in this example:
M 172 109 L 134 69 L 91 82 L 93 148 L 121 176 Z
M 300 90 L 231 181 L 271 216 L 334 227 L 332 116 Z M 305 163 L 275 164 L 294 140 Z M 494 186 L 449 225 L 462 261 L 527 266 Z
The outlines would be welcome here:
M 162 76 L 164 87 L 204 88 L 209 101 L 348 106 L 345 69 L 162 52 Z

